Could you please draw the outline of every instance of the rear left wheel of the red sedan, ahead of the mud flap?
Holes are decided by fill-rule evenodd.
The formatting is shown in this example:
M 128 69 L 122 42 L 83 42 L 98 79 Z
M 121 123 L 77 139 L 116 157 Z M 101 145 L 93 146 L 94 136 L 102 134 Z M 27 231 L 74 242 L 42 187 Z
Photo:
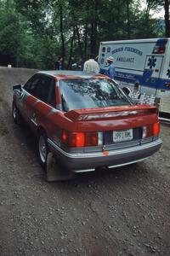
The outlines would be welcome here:
M 47 135 L 45 131 L 40 131 L 38 133 L 37 148 L 38 148 L 38 156 L 39 156 L 40 164 L 42 168 L 46 171 L 47 159 L 48 159 L 48 142 L 47 142 Z

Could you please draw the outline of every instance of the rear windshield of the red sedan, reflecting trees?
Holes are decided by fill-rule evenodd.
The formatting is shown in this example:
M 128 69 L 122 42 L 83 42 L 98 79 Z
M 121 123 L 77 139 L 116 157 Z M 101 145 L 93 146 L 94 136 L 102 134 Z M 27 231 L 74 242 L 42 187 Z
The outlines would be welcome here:
M 131 105 L 130 99 L 107 79 L 70 79 L 59 81 L 64 111 Z

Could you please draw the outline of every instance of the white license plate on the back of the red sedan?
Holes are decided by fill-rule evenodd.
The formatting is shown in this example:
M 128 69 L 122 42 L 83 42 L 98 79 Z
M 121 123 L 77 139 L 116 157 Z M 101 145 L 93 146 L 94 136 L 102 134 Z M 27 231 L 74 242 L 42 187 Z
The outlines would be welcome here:
M 113 131 L 113 142 L 122 143 L 133 140 L 133 129 Z

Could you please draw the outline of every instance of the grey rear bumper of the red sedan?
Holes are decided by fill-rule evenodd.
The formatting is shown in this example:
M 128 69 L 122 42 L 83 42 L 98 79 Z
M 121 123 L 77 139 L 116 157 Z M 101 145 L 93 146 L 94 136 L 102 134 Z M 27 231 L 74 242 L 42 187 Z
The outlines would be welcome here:
M 48 139 L 50 150 L 61 161 L 62 165 L 72 172 L 91 172 L 96 167 L 107 166 L 109 168 L 116 166 L 125 166 L 140 160 L 144 160 L 150 155 L 156 153 L 161 148 L 161 139 L 158 138 L 150 143 L 144 143 L 129 148 L 114 149 L 103 152 L 93 153 L 67 153 L 59 146 Z

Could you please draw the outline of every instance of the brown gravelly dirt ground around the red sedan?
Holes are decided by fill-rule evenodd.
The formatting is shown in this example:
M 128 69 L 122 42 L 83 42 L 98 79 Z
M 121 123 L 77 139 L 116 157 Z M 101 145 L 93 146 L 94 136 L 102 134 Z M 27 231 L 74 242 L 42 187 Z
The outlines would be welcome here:
M 0 68 L 0 255 L 170 255 L 170 125 L 144 162 L 47 183 L 11 118 L 12 85 L 33 73 Z

